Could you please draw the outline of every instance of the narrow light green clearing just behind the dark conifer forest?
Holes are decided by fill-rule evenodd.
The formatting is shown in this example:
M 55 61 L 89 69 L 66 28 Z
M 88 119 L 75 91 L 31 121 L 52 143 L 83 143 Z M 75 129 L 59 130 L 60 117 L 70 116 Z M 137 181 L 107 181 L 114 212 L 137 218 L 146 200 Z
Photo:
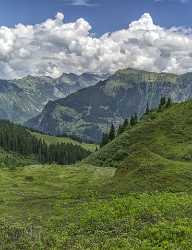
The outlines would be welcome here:
M 34 135 L 38 139 L 44 140 L 47 144 L 65 143 L 65 144 L 81 145 L 83 148 L 85 148 L 86 150 L 89 150 L 90 152 L 95 152 L 96 148 L 98 147 L 96 144 L 80 143 L 78 141 L 75 141 L 67 137 L 56 137 L 56 136 L 45 135 L 45 134 L 41 134 L 37 132 L 31 132 L 31 134 Z

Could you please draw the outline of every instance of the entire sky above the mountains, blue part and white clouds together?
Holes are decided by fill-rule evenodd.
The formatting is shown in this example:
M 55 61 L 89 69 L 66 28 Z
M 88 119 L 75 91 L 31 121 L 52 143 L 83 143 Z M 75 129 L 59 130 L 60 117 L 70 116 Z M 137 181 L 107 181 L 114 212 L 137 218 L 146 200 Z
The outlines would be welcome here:
M 192 71 L 192 0 L 1 0 L 0 78 Z

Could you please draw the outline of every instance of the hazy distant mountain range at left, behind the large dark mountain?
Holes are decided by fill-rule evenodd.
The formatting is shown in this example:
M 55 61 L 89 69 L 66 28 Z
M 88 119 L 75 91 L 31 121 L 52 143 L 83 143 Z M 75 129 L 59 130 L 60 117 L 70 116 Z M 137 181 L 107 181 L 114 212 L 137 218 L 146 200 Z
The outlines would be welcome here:
M 50 100 L 57 100 L 107 76 L 63 74 L 58 79 L 27 76 L 0 80 L 0 119 L 23 123 L 39 114 Z

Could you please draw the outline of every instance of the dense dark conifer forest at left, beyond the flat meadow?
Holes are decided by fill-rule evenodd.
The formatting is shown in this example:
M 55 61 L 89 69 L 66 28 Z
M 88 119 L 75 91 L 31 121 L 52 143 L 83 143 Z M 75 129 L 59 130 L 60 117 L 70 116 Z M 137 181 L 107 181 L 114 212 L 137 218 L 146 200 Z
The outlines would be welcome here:
M 73 164 L 87 157 L 90 152 L 81 145 L 46 144 L 27 129 L 9 121 L 0 121 L 0 146 L 24 156 L 35 155 L 41 163 Z

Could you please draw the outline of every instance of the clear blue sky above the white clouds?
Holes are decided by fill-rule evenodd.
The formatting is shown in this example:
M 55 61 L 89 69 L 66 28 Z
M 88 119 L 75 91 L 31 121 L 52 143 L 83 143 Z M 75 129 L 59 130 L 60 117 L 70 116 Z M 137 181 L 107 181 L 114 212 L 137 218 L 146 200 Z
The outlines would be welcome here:
M 163 27 L 191 26 L 191 10 L 191 0 L 1 0 L 0 25 L 41 23 L 59 11 L 67 22 L 83 17 L 101 35 L 127 27 L 145 12 Z

